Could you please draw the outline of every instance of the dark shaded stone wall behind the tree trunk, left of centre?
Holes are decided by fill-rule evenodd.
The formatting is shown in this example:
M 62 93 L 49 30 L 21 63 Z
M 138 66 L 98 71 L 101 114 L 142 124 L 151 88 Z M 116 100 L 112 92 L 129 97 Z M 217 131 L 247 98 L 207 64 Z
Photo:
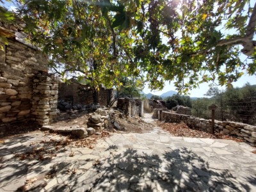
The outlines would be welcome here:
M 71 83 L 60 83 L 58 95 L 59 100 L 65 100 L 66 102 L 70 102 L 72 106 L 76 104 L 92 104 L 92 92 L 90 92 L 90 90 L 83 92 L 79 90 L 88 90 L 88 86 L 76 83 L 75 81 L 72 81 Z M 100 88 L 99 104 L 101 106 L 108 106 L 108 94 L 108 89 Z

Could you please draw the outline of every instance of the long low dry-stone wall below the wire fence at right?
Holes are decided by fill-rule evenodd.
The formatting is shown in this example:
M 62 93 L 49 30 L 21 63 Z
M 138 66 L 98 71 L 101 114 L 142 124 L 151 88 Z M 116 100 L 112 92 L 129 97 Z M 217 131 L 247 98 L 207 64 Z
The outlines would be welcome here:
M 195 116 L 180 115 L 177 113 L 170 113 L 163 111 L 163 120 L 165 122 L 180 123 L 184 122 L 191 129 L 196 129 L 204 132 L 211 132 L 211 120 L 205 120 L 204 118 L 197 118 Z M 228 134 L 249 142 L 250 145 L 256 147 L 256 126 L 247 125 L 239 122 L 221 122 L 214 121 L 215 132 L 221 132 Z

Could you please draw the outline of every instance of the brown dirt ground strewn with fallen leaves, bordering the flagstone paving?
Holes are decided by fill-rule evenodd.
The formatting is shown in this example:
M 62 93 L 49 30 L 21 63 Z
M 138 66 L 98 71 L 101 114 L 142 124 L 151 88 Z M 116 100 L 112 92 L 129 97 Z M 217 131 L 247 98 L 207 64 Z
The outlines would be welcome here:
M 51 125 L 54 127 L 64 127 L 64 126 L 72 126 L 72 125 L 78 125 L 79 127 L 87 124 L 88 118 L 90 114 L 88 113 L 70 113 L 70 112 L 62 112 L 59 114 L 58 119 L 52 123 Z M 147 122 L 147 118 L 140 118 L 138 116 L 136 117 L 124 117 L 120 116 L 115 119 L 120 127 L 122 127 L 121 130 L 116 129 L 104 129 L 100 134 L 95 134 L 93 136 L 90 136 L 88 138 L 83 139 L 76 139 L 72 138 L 72 136 L 67 136 L 67 142 L 72 142 L 77 147 L 86 146 L 91 148 L 93 143 L 95 143 L 98 139 L 102 137 L 106 137 L 109 135 L 110 132 L 136 132 L 136 133 L 143 133 L 143 132 L 150 132 L 154 129 L 154 127 L 157 125 L 164 129 L 167 132 L 170 132 L 173 136 L 182 136 L 182 137 L 188 137 L 188 138 L 218 138 L 218 139 L 225 139 L 225 140 L 235 140 L 238 142 L 241 142 L 241 140 L 238 140 L 237 138 L 233 138 L 232 136 L 227 136 L 223 134 L 210 134 L 207 132 L 198 131 L 195 129 L 190 129 L 186 124 L 172 124 L 172 123 L 163 123 L 156 121 L 156 123 L 150 124 Z M 12 130 L 15 130 L 15 127 L 21 127 L 22 131 L 20 132 L 13 132 Z M 22 134 L 24 132 L 29 131 L 38 131 L 38 126 L 33 124 L 22 124 L 22 125 L 15 125 L 15 127 L 10 129 L 7 136 L 12 136 L 13 134 Z M 19 130 L 20 130 L 19 127 Z M 17 129 L 16 129 L 17 130 Z M 40 129 L 39 129 L 40 130 Z M 56 133 L 45 133 L 45 134 L 56 134 Z

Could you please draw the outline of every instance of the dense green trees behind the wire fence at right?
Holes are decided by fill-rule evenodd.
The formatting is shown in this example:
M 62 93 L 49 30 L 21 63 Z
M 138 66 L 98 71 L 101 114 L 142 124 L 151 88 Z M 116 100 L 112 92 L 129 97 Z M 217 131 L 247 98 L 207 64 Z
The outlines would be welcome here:
M 228 88 L 221 91 L 210 88 L 206 94 L 211 98 L 192 100 L 192 113 L 201 118 L 211 118 L 207 106 L 216 104 L 218 120 L 234 120 L 246 124 L 256 124 L 256 86 L 246 83 L 242 88 Z

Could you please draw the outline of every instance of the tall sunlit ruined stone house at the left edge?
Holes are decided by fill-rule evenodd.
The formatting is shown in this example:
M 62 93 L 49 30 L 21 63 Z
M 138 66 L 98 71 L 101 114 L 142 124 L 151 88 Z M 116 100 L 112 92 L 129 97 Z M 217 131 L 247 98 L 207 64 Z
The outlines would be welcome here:
M 56 117 L 58 81 L 48 74 L 47 58 L 20 29 L 0 20 L 0 134 L 13 123 L 45 125 Z

